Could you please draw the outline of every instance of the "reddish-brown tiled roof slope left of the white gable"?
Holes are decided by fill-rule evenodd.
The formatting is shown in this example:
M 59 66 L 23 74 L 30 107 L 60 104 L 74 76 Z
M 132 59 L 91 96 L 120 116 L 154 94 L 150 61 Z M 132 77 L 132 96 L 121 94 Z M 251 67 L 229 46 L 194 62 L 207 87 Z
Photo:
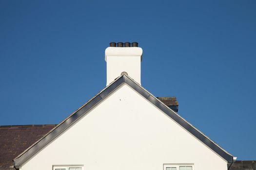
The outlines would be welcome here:
M 0 126 L 0 170 L 11 170 L 13 159 L 56 125 Z

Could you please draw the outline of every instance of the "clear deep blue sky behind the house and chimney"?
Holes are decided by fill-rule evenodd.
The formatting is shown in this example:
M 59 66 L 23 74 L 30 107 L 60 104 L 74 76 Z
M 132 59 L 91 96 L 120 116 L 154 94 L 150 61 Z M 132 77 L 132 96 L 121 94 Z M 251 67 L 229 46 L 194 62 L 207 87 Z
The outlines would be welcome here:
M 58 124 L 137 41 L 141 84 L 239 160 L 256 160 L 256 1 L 0 1 L 0 125 Z

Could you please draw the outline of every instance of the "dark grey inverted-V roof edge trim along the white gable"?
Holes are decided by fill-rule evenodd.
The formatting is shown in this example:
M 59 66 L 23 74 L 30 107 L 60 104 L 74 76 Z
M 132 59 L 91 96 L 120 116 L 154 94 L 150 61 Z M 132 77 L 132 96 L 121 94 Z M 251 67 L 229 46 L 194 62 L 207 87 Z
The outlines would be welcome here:
M 225 159 L 227 162 L 233 162 L 233 155 L 227 153 L 224 149 L 218 146 L 215 142 L 213 142 L 209 137 L 205 136 L 199 130 L 197 130 L 193 125 L 188 123 L 185 119 L 181 118 L 176 112 L 171 110 L 164 103 L 159 101 L 156 97 L 154 97 L 151 93 L 149 93 L 146 89 L 144 89 L 141 85 L 136 83 L 132 78 L 122 75 L 118 77 L 112 84 L 105 87 L 102 91 L 100 91 L 95 97 L 93 97 L 90 101 L 86 102 L 83 106 L 81 106 L 77 111 L 71 114 L 67 119 L 63 120 L 52 129 L 48 134 L 46 134 L 39 141 L 34 143 L 31 147 L 21 153 L 14 159 L 14 166 L 18 169 L 23 163 L 26 162 L 31 156 L 37 153 L 41 148 L 47 145 L 51 140 L 53 140 L 56 136 L 58 136 L 61 132 L 63 132 L 66 128 L 72 125 L 76 120 L 78 120 L 81 116 L 86 114 L 90 109 L 92 109 L 98 102 L 103 100 L 106 96 L 111 94 L 115 89 L 117 89 L 122 84 L 127 84 L 136 90 L 141 96 L 143 96 L 146 100 L 154 104 L 158 107 L 162 112 L 168 115 L 171 119 L 175 120 L 180 126 L 186 129 L 193 136 L 197 137 L 202 143 L 212 149 L 215 153 Z

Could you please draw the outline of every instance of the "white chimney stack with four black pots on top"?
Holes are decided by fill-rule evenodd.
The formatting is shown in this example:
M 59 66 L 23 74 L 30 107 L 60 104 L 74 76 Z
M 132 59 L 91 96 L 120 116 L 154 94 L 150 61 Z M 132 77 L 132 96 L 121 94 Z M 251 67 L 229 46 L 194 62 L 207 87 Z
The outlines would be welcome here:
M 113 82 L 122 72 L 126 72 L 140 84 L 140 62 L 142 49 L 138 43 L 110 43 L 110 47 L 105 50 L 105 61 L 107 62 L 107 85 Z

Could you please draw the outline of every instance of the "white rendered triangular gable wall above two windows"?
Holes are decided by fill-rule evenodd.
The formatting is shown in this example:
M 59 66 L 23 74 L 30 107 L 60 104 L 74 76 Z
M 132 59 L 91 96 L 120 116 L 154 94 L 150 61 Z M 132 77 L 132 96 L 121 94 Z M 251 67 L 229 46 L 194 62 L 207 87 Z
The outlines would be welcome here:
M 84 165 L 84 170 L 163 170 L 164 163 L 194 170 L 227 170 L 224 159 L 175 121 L 122 85 L 21 170 Z

